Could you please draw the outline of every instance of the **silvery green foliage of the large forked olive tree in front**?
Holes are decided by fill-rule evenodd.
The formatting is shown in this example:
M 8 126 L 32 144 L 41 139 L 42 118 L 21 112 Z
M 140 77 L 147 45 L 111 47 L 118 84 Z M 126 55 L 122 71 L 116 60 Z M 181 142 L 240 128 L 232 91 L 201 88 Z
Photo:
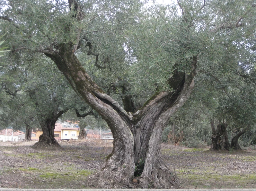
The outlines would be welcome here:
M 13 53 L 24 47 L 23 54 L 27 54 L 41 48 L 55 49 L 61 43 L 76 44 L 80 29 L 80 48 L 76 55 L 88 74 L 104 90 L 120 78 L 127 81 L 130 89 L 126 93 L 133 95 L 139 107 L 156 88 L 172 91 L 167 79 L 172 76 L 173 67 L 189 72 L 193 56 L 198 58 L 197 75 L 202 77 L 199 81 L 195 79 L 196 83 L 211 84 L 220 93 L 215 98 L 220 103 L 218 111 L 224 111 L 221 107 L 232 105 L 230 102 L 240 106 L 249 102 L 235 101 L 239 88 L 236 89 L 234 82 L 244 87 L 239 73 L 255 69 L 256 10 L 252 0 L 209 0 L 206 4 L 199 0 L 180 0 L 179 5 L 155 4 L 147 8 L 132 0 L 80 1 L 85 13 L 82 20 L 74 19 L 74 7 L 69 11 L 64 1 L 0 2 L 0 16 L 10 19 L 0 21 L 1 34 L 7 33 L 6 42 Z M 95 67 L 95 56 L 87 55 L 88 41 L 99 54 L 98 64 L 106 66 L 105 69 Z M 51 65 L 51 61 L 46 62 Z M 51 71 L 54 69 L 48 68 L 45 78 L 51 79 Z M 111 96 L 121 102 L 113 93 Z M 232 108 L 237 107 L 233 104 Z M 249 105 L 246 107 L 250 110 Z M 247 111 L 242 115 L 236 112 L 236 119 L 239 116 L 243 119 L 241 116 L 246 116 Z

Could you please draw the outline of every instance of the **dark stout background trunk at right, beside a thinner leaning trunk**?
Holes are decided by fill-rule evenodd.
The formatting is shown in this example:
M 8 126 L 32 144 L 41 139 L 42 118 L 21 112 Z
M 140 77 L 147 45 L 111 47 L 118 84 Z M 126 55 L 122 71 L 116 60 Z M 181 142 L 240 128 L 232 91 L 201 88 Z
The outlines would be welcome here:
M 228 142 L 228 134 L 227 134 L 227 123 L 219 123 L 217 125 L 217 129 L 214 127 L 214 121 L 210 121 L 212 127 L 212 144 L 211 151 L 214 150 L 230 150 L 231 145 Z

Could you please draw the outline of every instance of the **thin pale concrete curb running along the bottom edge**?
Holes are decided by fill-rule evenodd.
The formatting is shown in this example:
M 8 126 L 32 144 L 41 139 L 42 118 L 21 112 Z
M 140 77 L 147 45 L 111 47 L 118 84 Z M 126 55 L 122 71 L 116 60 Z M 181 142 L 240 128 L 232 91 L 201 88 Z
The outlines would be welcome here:
M 0 191 L 256 191 L 256 189 L 20 189 L 0 188 Z

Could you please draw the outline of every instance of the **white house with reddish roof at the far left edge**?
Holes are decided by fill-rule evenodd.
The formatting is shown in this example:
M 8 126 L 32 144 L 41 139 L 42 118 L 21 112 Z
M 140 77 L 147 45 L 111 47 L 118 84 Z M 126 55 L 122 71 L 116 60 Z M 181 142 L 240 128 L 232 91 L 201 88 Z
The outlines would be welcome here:
M 23 141 L 25 133 L 19 130 L 3 129 L 0 131 L 0 141 Z

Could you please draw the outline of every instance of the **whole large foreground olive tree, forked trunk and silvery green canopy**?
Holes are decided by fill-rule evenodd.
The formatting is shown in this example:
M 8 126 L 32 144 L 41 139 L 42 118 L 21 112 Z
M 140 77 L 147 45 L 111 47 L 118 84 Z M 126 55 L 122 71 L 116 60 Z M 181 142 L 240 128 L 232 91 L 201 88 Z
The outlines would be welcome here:
M 253 107 L 253 0 L 178 0 L 147 8 L 135 0 L 0 2 L 9 57 L 42 53 L 48 80 L 58 67 L 113 133 L 113 151 L 89 186 L 129 188 L 134 175 L 141 188 L 178 186 L 162 160 L 161 133 L 189 98 L 196 75 L 219 86 L 226 119 L 239 121 Z M 243 90 L 245 79 L 251 82 Z

